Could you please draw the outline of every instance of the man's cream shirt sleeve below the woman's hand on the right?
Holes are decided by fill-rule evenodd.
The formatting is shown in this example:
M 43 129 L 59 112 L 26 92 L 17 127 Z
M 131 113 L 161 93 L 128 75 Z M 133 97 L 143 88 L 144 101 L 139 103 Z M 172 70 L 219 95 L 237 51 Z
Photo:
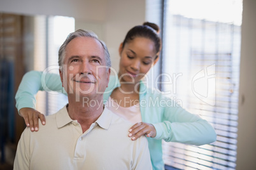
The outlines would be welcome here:
M 148 150 L 148 140 L 146 140 L 145 136 L 141 136 L 141 138 L 134 141 L 133 157 L 134 162 L 132 164 L 132 169 L 152 169 L 150 152 Z

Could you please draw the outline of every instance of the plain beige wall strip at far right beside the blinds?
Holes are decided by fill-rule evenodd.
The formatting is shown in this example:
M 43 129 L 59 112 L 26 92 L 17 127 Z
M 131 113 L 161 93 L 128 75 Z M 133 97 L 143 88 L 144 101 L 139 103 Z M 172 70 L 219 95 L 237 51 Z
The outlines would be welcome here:
M 256 1 L 243 0 L 237 168 L 256 169 Z

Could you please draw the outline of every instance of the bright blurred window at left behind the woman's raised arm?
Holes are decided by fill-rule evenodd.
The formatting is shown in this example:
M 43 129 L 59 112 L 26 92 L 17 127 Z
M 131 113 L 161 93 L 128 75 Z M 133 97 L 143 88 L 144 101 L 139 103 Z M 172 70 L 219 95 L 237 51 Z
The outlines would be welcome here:
M 75 31 L 75 19 L 35 16 L 34 20 L 34 69 L 59 74 L 58 51 L 68 34 Z M 36 100 L 36 108 L 45 115 L 54 114 L 68 103 L 66 96 L 53 91 L 39 91 Z

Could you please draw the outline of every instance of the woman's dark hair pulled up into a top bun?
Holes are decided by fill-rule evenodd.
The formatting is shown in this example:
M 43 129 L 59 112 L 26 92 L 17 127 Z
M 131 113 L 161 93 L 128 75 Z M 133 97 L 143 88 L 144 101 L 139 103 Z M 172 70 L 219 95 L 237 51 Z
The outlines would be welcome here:
M 145 37 L 155 43 L 155 51 L 158 53 L 162 46 L 158 32 L 159 27 L 155 23 L 145 22 L 143 25 L 137 25 L 127 32 L 122 47 L 124 48 L 125 43 L 132 41 L 136 37 Z

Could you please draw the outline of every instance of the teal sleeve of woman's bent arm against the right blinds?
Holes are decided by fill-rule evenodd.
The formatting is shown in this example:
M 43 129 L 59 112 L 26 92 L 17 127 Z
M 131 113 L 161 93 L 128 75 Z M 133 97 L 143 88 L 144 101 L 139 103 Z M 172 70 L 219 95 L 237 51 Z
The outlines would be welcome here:
M 175 103 L 175 102 L 174 102 Z M 190 114 L 177 103 L 164 107 L 162 122 L 153 124 L 157 131 L 155 139 L 164 139 L 189 145 L 204 145 L 216 141 L 215 129 L 201 117 Z

